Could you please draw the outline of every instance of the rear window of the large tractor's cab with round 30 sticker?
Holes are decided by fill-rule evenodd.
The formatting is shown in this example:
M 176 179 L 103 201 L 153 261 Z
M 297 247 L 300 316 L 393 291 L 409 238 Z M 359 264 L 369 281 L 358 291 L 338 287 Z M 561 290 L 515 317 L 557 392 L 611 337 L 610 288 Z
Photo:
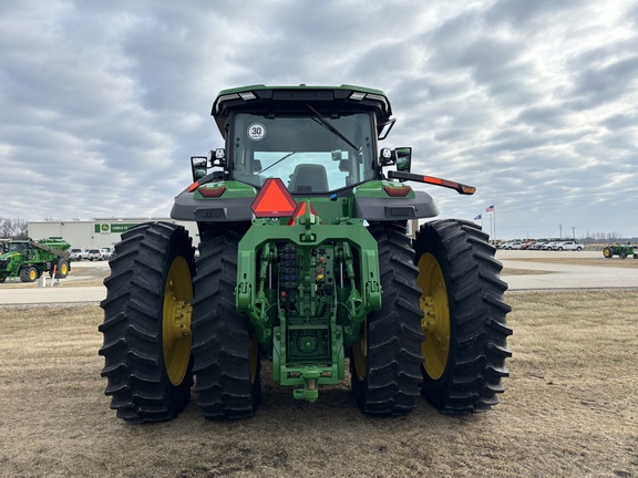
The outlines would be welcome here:
M 267 178 L 280 178 L 294 195 L 313 195 L 377 175 L 369 113 L 238 112 L 229 125 L 229 174 L 238 181 L 259 188 Z

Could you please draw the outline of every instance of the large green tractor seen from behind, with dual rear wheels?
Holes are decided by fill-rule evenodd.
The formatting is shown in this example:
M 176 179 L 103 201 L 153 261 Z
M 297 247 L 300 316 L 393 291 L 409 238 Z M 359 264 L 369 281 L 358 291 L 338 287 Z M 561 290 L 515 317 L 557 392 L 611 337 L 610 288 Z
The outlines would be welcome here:
M 474 188 L 379 147 L 394 124 L 384 93 L 254 85 L 220 92 L 212 114 L 225 148 L 191 158 L 171 212 L 197 222 L 197 259 L 182 226 L 151 222 L 110 261 L 100 354 L 116 415 L 171 419 L 194 385 L 206 418 L 250 417 L 266 360 L 307 402 L 349 375 L 375 416 L 419 395 L 452 414 L 495 405 L 512 355 L 502 266 L 473 222 L 408 236 L 439 210 L 407 181 Z

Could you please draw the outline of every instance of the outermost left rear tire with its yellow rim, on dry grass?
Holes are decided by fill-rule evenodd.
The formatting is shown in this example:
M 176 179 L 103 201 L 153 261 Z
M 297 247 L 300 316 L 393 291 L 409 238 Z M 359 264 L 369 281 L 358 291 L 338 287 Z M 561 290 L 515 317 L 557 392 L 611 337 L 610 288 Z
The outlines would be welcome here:
M 181 226 L 151 222 L 128 229 L 115 249 L 99 328 L 105 394 L 119 418 L 167 420 L 185 407 L 193 385 L 192 241 Z

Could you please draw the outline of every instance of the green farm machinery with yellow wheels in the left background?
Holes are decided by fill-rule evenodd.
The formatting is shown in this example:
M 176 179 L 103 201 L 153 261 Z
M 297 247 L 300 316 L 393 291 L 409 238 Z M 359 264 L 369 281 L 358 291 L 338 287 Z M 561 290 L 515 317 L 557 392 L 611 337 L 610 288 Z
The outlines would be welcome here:
M 0 256 L 0 283 L 8 278 L 33 282 L 45 272 L 53 277 L 53 271 L 55 278 L 64 279 L 71 270 L 70 247 L 62 238 L 7 241 Z

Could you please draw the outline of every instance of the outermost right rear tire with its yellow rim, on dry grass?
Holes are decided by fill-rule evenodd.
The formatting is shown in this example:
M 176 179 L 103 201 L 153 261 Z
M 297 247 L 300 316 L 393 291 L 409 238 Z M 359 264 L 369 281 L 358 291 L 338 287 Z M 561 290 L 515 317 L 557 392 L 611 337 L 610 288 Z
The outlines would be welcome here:
M 460 220 L 423 225 L 414 249 L 425 334 L 421 393 L 443 413 L 490 409 L 512 356 L 495 249 L 477 226 Z

